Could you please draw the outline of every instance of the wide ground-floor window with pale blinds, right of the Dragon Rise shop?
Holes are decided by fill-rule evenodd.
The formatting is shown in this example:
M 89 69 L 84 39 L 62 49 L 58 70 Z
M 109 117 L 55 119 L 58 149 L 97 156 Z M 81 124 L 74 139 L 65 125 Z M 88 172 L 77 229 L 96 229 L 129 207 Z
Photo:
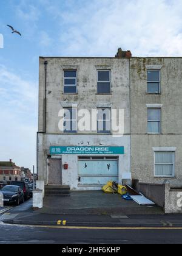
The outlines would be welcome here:
M 174 176 L 175 152 L 155 152 L 155 176 Z

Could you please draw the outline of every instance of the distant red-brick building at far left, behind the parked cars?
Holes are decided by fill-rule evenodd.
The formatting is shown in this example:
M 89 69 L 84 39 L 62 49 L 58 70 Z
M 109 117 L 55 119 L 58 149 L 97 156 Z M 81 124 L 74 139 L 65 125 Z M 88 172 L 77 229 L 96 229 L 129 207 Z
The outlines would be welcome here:
M 0 181 L 10 182 L 21 180 L 21 168 L 10 159 L 9 162 L 0 162 Z

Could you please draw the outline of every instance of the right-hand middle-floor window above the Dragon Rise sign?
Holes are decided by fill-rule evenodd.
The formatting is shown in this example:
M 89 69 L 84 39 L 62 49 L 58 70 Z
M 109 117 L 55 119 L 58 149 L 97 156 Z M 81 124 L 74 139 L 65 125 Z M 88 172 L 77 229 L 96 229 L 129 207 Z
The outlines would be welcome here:
M 110 133 L 110 108 L 98 108 L 97 132 Z

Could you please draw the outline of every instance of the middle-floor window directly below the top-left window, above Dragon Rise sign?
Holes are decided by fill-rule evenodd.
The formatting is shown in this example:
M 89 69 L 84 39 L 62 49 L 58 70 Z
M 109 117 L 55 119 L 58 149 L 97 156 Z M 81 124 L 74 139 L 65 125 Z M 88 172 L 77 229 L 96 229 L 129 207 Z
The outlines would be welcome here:
M 76 108 L 64 108 L 64 132 L 77 132 L 77 110 Z

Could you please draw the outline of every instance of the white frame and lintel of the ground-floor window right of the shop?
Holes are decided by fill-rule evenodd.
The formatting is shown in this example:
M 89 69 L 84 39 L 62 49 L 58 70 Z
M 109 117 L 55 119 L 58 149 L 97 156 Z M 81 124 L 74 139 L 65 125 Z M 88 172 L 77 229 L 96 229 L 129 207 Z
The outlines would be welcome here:
M 160 178 L 160 177 L 168 177 L 168 178 L 174 178 L 175 177 L 175 151 L 176 148 L 153 148 L 153 154 L 154 154 L 154 177 Z M 155 174 L 155 165 L 160 165 L 160 163 L 155 163 L 155 153 L 156 152 L 172 152 L 172 164 L 169 163 L 161 163 L 161 165 L 172 165 L 172 176 L 167 175 L 156 175 Z

